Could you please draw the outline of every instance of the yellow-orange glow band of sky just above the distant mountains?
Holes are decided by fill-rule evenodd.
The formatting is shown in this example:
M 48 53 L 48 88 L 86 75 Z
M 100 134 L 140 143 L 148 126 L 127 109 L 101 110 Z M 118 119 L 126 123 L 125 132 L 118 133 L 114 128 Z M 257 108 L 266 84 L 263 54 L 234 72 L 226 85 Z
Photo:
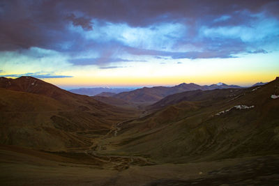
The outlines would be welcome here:
M 276 79 L 274 73 L 253 73 L 249 74 L 227 74 L 211 77 L 70 77 L 59 79 L 43 79 L 56 86 L 67 87 L 141 87 L 141 86 L 174 86 L 182 83 L 194 83 L 199 85 L 210 85 L 223 82 L 225 84 L 235 84 L 239 86 L 250 86 L 257 82 L 271 82 Z

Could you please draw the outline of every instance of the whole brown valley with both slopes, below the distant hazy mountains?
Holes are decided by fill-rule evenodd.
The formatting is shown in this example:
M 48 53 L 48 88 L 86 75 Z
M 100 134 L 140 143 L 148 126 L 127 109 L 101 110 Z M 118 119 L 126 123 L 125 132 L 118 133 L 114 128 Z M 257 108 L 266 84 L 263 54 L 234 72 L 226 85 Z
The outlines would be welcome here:
M 174 93 L 147 107 L 112 106 L 38 79 L 41 88 L 30 88 L 30 79 L 1 80 L 4 185 L 278 183 L 278 78 Z

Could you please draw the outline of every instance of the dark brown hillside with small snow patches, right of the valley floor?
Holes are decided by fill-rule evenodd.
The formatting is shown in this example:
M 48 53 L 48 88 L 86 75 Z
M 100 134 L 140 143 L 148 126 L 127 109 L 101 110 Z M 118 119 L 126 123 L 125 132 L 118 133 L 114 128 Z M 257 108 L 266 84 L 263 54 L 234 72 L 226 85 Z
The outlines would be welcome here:
M 119 125 L 119 136 L 107 141 L 114 146 L 103 153 L 134 153 L 158 162 L 278 154 L 278 87 L 277 78 L 264 86 L 235 89 L 237 94 L 224 89 L 188 92 L 180 100 L 176 98 L 184 93 L 169 95 L 165 102 L 175 100 L 169 106 Z

